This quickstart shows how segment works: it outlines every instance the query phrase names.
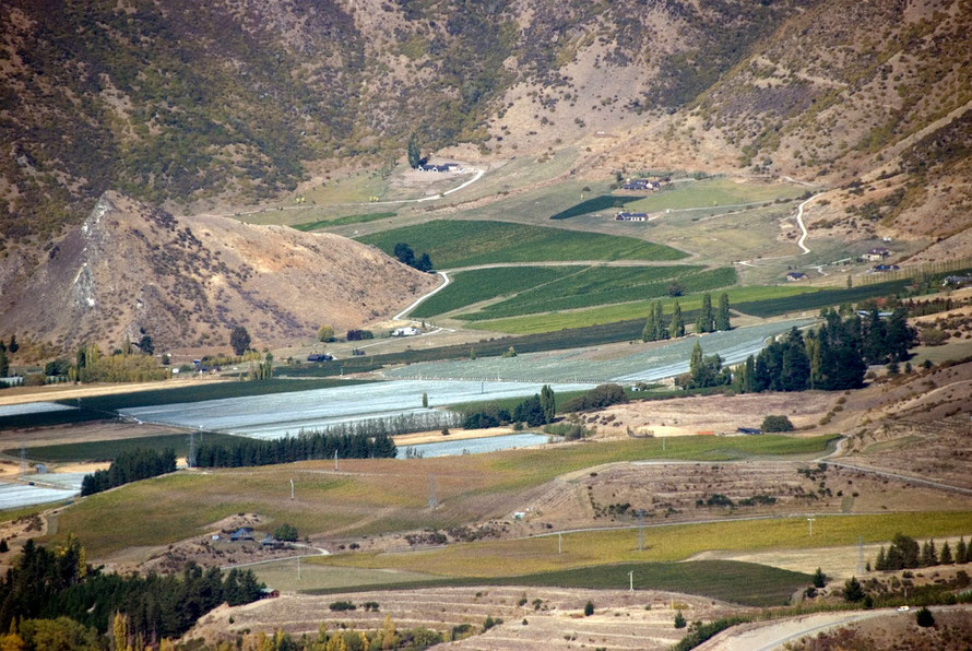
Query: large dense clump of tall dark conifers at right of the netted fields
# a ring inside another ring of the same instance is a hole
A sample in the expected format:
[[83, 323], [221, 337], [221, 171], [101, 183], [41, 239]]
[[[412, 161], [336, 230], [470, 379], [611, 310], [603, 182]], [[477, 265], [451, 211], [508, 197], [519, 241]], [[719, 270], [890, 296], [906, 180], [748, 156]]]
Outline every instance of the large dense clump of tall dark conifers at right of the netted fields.
[[904, 308], [894, 310], [887, 322], [876, 309], [864, 319], [858, 315], [841, 319], [829, 309], [822, 316], [819, 330], [801, 334], [793, 328], [756, 357], [750, 355], [735, 369], [735, 388], [747, 393], [856, 389], [869, 364], [897, 364], [916, 342]]

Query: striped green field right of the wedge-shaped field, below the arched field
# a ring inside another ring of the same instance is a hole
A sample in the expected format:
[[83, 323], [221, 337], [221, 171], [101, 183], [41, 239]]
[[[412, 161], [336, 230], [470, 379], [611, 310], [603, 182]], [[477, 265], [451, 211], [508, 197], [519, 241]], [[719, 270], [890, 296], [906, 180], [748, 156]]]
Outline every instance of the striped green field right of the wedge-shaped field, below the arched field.
[[482, 321], [657, 298], [667, 296], [673, 282], [678, 282], [687, 292], [704, 292], [732, 285], [736, 282], [736, 271], [731, 267], [710, 270], [689, 265], [593, 267], [459, 318]]

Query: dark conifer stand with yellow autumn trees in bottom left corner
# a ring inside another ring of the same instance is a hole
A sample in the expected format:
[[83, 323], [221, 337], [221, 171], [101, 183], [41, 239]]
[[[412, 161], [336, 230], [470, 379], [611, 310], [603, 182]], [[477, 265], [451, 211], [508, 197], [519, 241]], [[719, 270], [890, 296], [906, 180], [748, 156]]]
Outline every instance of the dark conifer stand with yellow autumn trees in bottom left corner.
[[[0, 582], [0, 628], [67, 617], [98, 634], [122, 628], [125, 644], [116, 648], [134, 648], [135, 642], [177, 638], [223, 602], [240, 605], [260, 599], [262, 588], [249, 570], [230, 570], [224, 578], [218, 568], [203, 571], [193, 564], [181, 576], [102, 573], [87, 565], [73, 536], [54, 549], [27, 541]], [[78, 627], [59, 628], [74, 628], [85, 637]]]

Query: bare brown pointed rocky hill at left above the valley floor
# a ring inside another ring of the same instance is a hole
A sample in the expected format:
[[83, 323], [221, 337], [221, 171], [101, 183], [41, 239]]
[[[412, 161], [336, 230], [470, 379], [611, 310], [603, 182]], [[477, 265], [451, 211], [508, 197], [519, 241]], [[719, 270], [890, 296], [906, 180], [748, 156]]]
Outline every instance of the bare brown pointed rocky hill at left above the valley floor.
[[45, 260], [0, 286], [0, 336], [72, 347], [150, 334], [159, 347], [312, 338], [360, 328], [437, 279], [336, 235], [174, 217], [115, 192]]

